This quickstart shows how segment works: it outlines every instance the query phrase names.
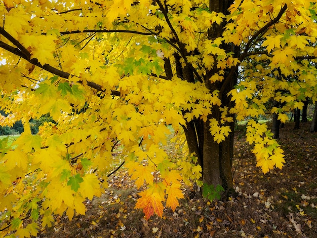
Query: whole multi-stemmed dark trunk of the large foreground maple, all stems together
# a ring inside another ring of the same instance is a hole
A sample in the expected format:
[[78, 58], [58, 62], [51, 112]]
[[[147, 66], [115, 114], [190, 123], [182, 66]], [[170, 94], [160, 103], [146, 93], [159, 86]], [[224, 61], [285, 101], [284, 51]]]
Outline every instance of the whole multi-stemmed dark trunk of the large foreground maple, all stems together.
[[[233, 0], [210, 0], [210, 11], [222, 12], [228, 14], [228, 8], [233, 3]], [[208, 37], [213, 39], [220, 37], [224, 30], [223, 24], [213, 24], [209, 29]], [[233, 45], [222, 44], [222, 48], [226, 52], [234, 52], [235, 56], [239, 56], [240, 48]], [[175, 67], [177, 76], [183, 78], [187, 82], [194, 82], [195, 78], [191, 71], [191, 65], [181, 65], [180, 56], [175, 53]], [[216, 58], [215, 58], [216, 61]], [[233, 89], [237, 81], [237, 69], [229, 68], [224, 73], [222, 82], [211, 83], [210, 77], [215, 73], [219, 73], [219, 68], [215, 64], [214, 68], [206, 72], [205, 85], [210, 93], [215, 90], [219, 93], [221, 107], [232, 108], [234, 105], [231, 102], [228, 93]], [[230, 126], [231, 133], [219, 144], [214, 141], [214, 137], [210, 132], [210, 119], [215, 118], [220, 123], [221, 108], [214, 106], [212, 113], [208, 115], [208, 120], [203, 122], [200, 119], [194, 119], [184, 126], [184, 132], [187, 139], [189, 152], [194, 152], [198, 157], [198, 164], [202, 167], [202, 180], [208, 185], [222, 185], [226, 192], [233, 190], [232, 178], [232, 158], [233, 158], [233, 132], [234, 122], [226, 123], [222, 126]], [[183, 112], [185, 113], [185, 111]], [[228, 115], [234, 118], [234, 115]]]

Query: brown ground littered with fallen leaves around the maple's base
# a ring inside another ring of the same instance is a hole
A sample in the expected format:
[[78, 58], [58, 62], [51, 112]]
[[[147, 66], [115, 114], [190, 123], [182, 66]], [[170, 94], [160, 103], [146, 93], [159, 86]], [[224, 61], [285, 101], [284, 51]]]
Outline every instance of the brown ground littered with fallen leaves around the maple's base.
[[[310, 133], [309, 126], [304, 123], [294, 131], [288, 123], [281, 129], [286, 164], [265, 175], [255, 167], [244, 129], [237, 128], [232, 166], [237, 195], [227, 201], [191, 197], [190, 187], [185, 187], [175, 212], [165, 209], [162, 219], [146, 220], [134, 209], [139, 191], [121, 169], [109, 178], [105, 194], [87, 201], [85, 216], [72, 221], [57, 216], [54, 227], [43, 229], [38, 237], [315, 237], [317, 134]], [[179, 156], [171, 143], [166, 150]], [[120, 153], [116, 156], [120, 165]]]

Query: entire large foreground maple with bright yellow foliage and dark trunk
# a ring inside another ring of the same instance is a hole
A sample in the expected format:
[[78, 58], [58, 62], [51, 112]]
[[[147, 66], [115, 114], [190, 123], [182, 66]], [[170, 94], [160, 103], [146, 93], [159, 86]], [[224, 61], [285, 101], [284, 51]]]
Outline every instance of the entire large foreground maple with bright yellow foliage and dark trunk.
[[[228, 192], [235, 118], [248, 118], [247, 141], [266, 173], [284, 155], [256, 118], [270, 108], [285, 122], [306, 97], [316, 100], [313, 2], [6, 0], [0, 12], [9, 114], [0, 122], [24, 126], [0, 143], [2, 234], [28, 237], [38, 219], [51, 226], [53, 214], [85, 214], [119, 142], [146, 187], [136, 204], [146, 218], [175, 210], [182, 180]], [[32, 135], [29, 121], [46, 114], [54, 122]], [[188, 144], [177, 161], [159, 146], [172, 131]]]

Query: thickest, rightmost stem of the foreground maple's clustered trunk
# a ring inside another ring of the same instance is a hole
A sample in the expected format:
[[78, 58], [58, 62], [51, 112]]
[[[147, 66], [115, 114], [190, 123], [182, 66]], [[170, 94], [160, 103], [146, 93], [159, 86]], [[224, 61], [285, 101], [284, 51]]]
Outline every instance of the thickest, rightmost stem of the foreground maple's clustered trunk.
[[[210, 0], [209, 9], [214, 12], [222, 12], [225, 15], [228, 14], [228, 8], [233, 3], [232, 0]], [[210, 39], [219, 37], [222, 35], [224, 29], [223, 24], [214, 23], [208, 32]], [[235, 56], [238, 56], [240, 49], [233, 45], [222, 44], [222, 48], [226, 52], [234, 52]], [[216, 62], [216, 59], [215, 59]], [[216, 65], [216, 64], [215, 64]], [[213, 93], [215, 90], [221, 91], [220, 100], [223, 106], [227, 106], [229, 109], [233, 106], [231, 98], [227, 96], [229, 91], [233, 89], [233, 86], [237, 81], [237, 73], [232, 74], [233, 69], [227, 69], [224, 73], [224, 81], [211, 84], [209, 78], [215, 73], [219, 72], [219, 69], [214, 66], [213, 69], [206, 72], [205, 85]], [[231, 73], [231, 74], [230, 74]], [[224, 82], [227, 83], [224, 87]], [[210, 133], [209, 120], [215, 118], [220, 123], [221, 111], [220, 108], [215, 107], [212, 110], [212, 114], [209, 115], [208, 120], [204, 123], [204, 148], [203, 148], [203, 181], [207, 184], [212, 184], [216, 187], [218, 184], [222, 185], [225, 191], [233, 189], [232, 178], [232, 158], [233, 158], [233, 131], [234, 123], [227, 123], [231, 127], [231, 134], [226, 137], [219, 144], [214, 141], [213, 136]], [[230, 116], [230, 115], [229, 115]], [[231, 115], [233, 116], [233, 115]]]

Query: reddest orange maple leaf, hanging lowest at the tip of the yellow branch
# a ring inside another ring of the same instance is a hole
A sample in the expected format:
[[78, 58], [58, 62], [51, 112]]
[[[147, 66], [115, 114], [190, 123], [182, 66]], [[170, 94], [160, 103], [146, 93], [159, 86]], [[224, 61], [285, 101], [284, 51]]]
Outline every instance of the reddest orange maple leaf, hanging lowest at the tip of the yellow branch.
[[141, 198], [138, 199], [135, 208], [143, 210], [146, 220], [148, 220], [154, 214], [162, 218], [164, 207], [160, 194], [155, 192], [148, 194], [148, 190], [146, 190], [140, 192], [139, 195]]

